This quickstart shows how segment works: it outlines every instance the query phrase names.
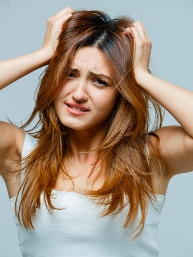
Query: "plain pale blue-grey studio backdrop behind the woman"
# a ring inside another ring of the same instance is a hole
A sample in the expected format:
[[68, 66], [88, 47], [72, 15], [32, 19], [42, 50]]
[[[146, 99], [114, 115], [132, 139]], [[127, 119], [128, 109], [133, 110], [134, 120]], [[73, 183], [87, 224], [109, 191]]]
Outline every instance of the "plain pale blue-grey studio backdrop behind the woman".
[[[1, 0], [0, 60], [26, 55], [40, 49], [47, 19], [67, 6], [71, 6], [74, 10], [86, 8], [105, 11], [111, 18], [123, 14], [131, 16], [135, 21], [141, 20], [153, 44], [149, 66], [152, 74], [193, 91], [193, 2], [191, 0]], [[17, 125], [21, 126], [21, 120], [27, 118], [33, 110], [34, 91], [39, 82], [38, 77], [44, 69], [45, 67], [42, 67], [0, 91], [1, 121], [8, 122], [7, 114], [12, 122], [17, 122]], [[179, 125], [179, 123], [166, 111], [163, 126], [168, 125]], [[192, 182], [193, 172], [178, 174], [169, 182], [166, 202], [158, 225], [160, 257], [193, 256]], [[0, 203], [0, 256], [22, 256], [8, 202], [7, 188], [1, 176]]]

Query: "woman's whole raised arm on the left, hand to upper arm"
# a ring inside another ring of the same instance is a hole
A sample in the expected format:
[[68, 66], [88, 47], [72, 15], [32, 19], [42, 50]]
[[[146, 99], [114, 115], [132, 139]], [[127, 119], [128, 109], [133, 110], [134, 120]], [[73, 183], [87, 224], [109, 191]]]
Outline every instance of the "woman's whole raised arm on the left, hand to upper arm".
[[[57, 46], [59, 33], [66, 19], [73, 12], [72, 8], [66, 7], [48, 18], [46, 34], [40, 50], [28, 55], [0, 61], [0, 90], [30, 72], [49, 64]], [[0, 175], [5, 180], [6, 185], [15, 180], [15, 173], [8, 174], [4, 172], [13, 169], [11, 158], [8, 155], [8, 146], [9, 152], [14, 158], [21, 158], [24, 139], [25, 132], [23, 130], [13, 124], [0, 121]]]

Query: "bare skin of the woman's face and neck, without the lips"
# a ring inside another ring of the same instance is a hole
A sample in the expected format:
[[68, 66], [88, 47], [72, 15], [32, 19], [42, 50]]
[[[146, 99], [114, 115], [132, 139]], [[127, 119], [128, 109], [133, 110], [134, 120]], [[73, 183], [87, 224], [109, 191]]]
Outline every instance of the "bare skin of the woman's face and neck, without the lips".
[[[112, 78], [103, 55], [96, 47], [86, 46], [79, 49], [71, 67], [78, 68], [80, 74], [70, 74], [54, 100], [54, 107], [61, 123], [69, 128], [71, 160], [82, 166], [92, 163], [96, 155], [95, 152], [79, 152], [93, 150], [99, 146], [100, 139], [106, 131], [106, 118], [115, 108], [119, 92], [112, 87], [111, 80], [88, 76], [89, 71], [92, 71]], [[101, 80], [108, 85], [102, 84]], [[71, 114], [67, 111], [65, 102], [80, 103], [90, 111], [84, 115]]]

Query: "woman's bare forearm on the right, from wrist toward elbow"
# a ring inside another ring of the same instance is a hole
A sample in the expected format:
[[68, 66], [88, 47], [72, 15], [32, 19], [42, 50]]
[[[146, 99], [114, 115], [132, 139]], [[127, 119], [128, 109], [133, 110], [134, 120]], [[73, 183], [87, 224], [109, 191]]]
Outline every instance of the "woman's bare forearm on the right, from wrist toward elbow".
[[193, 92], [144, 71], [137, 74], [136, 80], [193, 138]]

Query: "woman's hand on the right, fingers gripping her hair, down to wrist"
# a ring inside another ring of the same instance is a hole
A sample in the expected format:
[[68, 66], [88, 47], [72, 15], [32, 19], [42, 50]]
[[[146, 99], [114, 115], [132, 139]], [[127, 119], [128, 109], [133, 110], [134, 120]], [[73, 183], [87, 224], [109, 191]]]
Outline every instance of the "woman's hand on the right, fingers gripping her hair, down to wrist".
[[134, 50], [136, 51], [134, 56], [134, 73], [137, 79], [141, 71], [148, 72], [152, 43], [140, 20], [132, 23], [132, 25], [133, 27], [131, 29], [126, 28], [123, 34], [127, 35], [132, 30], [134, 35]]

